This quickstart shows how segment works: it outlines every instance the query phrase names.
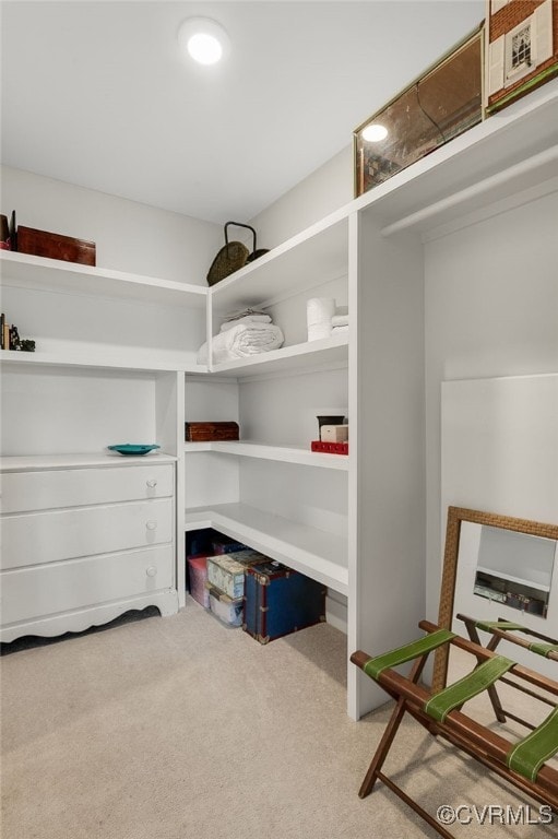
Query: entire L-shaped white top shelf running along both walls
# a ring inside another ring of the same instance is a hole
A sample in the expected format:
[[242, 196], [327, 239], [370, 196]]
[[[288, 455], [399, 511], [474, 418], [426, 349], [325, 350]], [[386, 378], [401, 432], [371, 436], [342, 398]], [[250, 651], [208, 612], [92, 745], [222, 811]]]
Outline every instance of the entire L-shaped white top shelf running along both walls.
[[[2, 282], [216, 312], [270, 305], [347, 276], [349, 220], [428, 237], [512, 197], [558, 188], [558, 79], [489, 117], [211, 288], [0, 251]], [[443, 227], [441, 226], [443, 225]]]

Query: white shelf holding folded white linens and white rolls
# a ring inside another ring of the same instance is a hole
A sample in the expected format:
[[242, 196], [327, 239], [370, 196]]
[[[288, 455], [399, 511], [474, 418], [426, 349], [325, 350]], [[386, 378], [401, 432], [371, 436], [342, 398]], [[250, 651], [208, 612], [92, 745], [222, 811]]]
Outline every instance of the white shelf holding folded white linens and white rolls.
[[317, 365], [331, 367], [334, 364], [346, 364], [348, 358], [348, 335], [335, 335], [320, 341], [306, 341], [304, 344], [284, 346], [269, 353], [253, 355], [250, 358], [239, 358], [235, 362], [213, 365], [212, 373], [219, 376], [260, 376], [262, 374], [302, 369]]

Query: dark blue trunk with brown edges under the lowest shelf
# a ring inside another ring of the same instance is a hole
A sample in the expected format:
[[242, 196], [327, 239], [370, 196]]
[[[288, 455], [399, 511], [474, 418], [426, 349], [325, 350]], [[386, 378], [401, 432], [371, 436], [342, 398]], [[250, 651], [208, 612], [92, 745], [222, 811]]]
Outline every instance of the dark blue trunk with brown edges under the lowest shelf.
[[260, 643], [325, 621], [325, 588], [272, 560], [245, 572], [242, 629]]

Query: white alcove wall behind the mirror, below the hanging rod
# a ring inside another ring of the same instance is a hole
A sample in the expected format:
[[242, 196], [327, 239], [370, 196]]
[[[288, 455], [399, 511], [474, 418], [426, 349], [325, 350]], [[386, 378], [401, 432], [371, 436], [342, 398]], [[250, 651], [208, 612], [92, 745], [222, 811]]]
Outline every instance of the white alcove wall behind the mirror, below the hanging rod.
[[[558, 370], [557, 214], [554, 193], [425, 247], [427, 612], [431, 619], [438, 613], [444, 531], [441, 382]], [[495, 504], [501, 495], [495, 487]], [[480, 491], [478, 498], [483, 498], [480, 506], [471, 496], [467, 506], [485, 509], [489, 501]], [[486, 511], [530, 518], [517, 509]]]

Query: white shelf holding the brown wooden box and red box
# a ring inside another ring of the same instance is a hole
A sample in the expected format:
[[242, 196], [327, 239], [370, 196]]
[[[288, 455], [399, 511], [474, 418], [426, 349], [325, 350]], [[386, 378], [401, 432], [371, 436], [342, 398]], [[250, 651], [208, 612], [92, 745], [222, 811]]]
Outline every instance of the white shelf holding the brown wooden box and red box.
[[187, 453], [217, 451], [222, 454], [235, 454], [241, 458], [276, 460], [281, 463], [297, 463], [304, 466], [321, 466], [323, 469], [348, 471], [347, 454], [328, 454], [295, 446], [270, 446], [249, 440], [212, 440], [207, 442], [186, 442], [185, 451]]

